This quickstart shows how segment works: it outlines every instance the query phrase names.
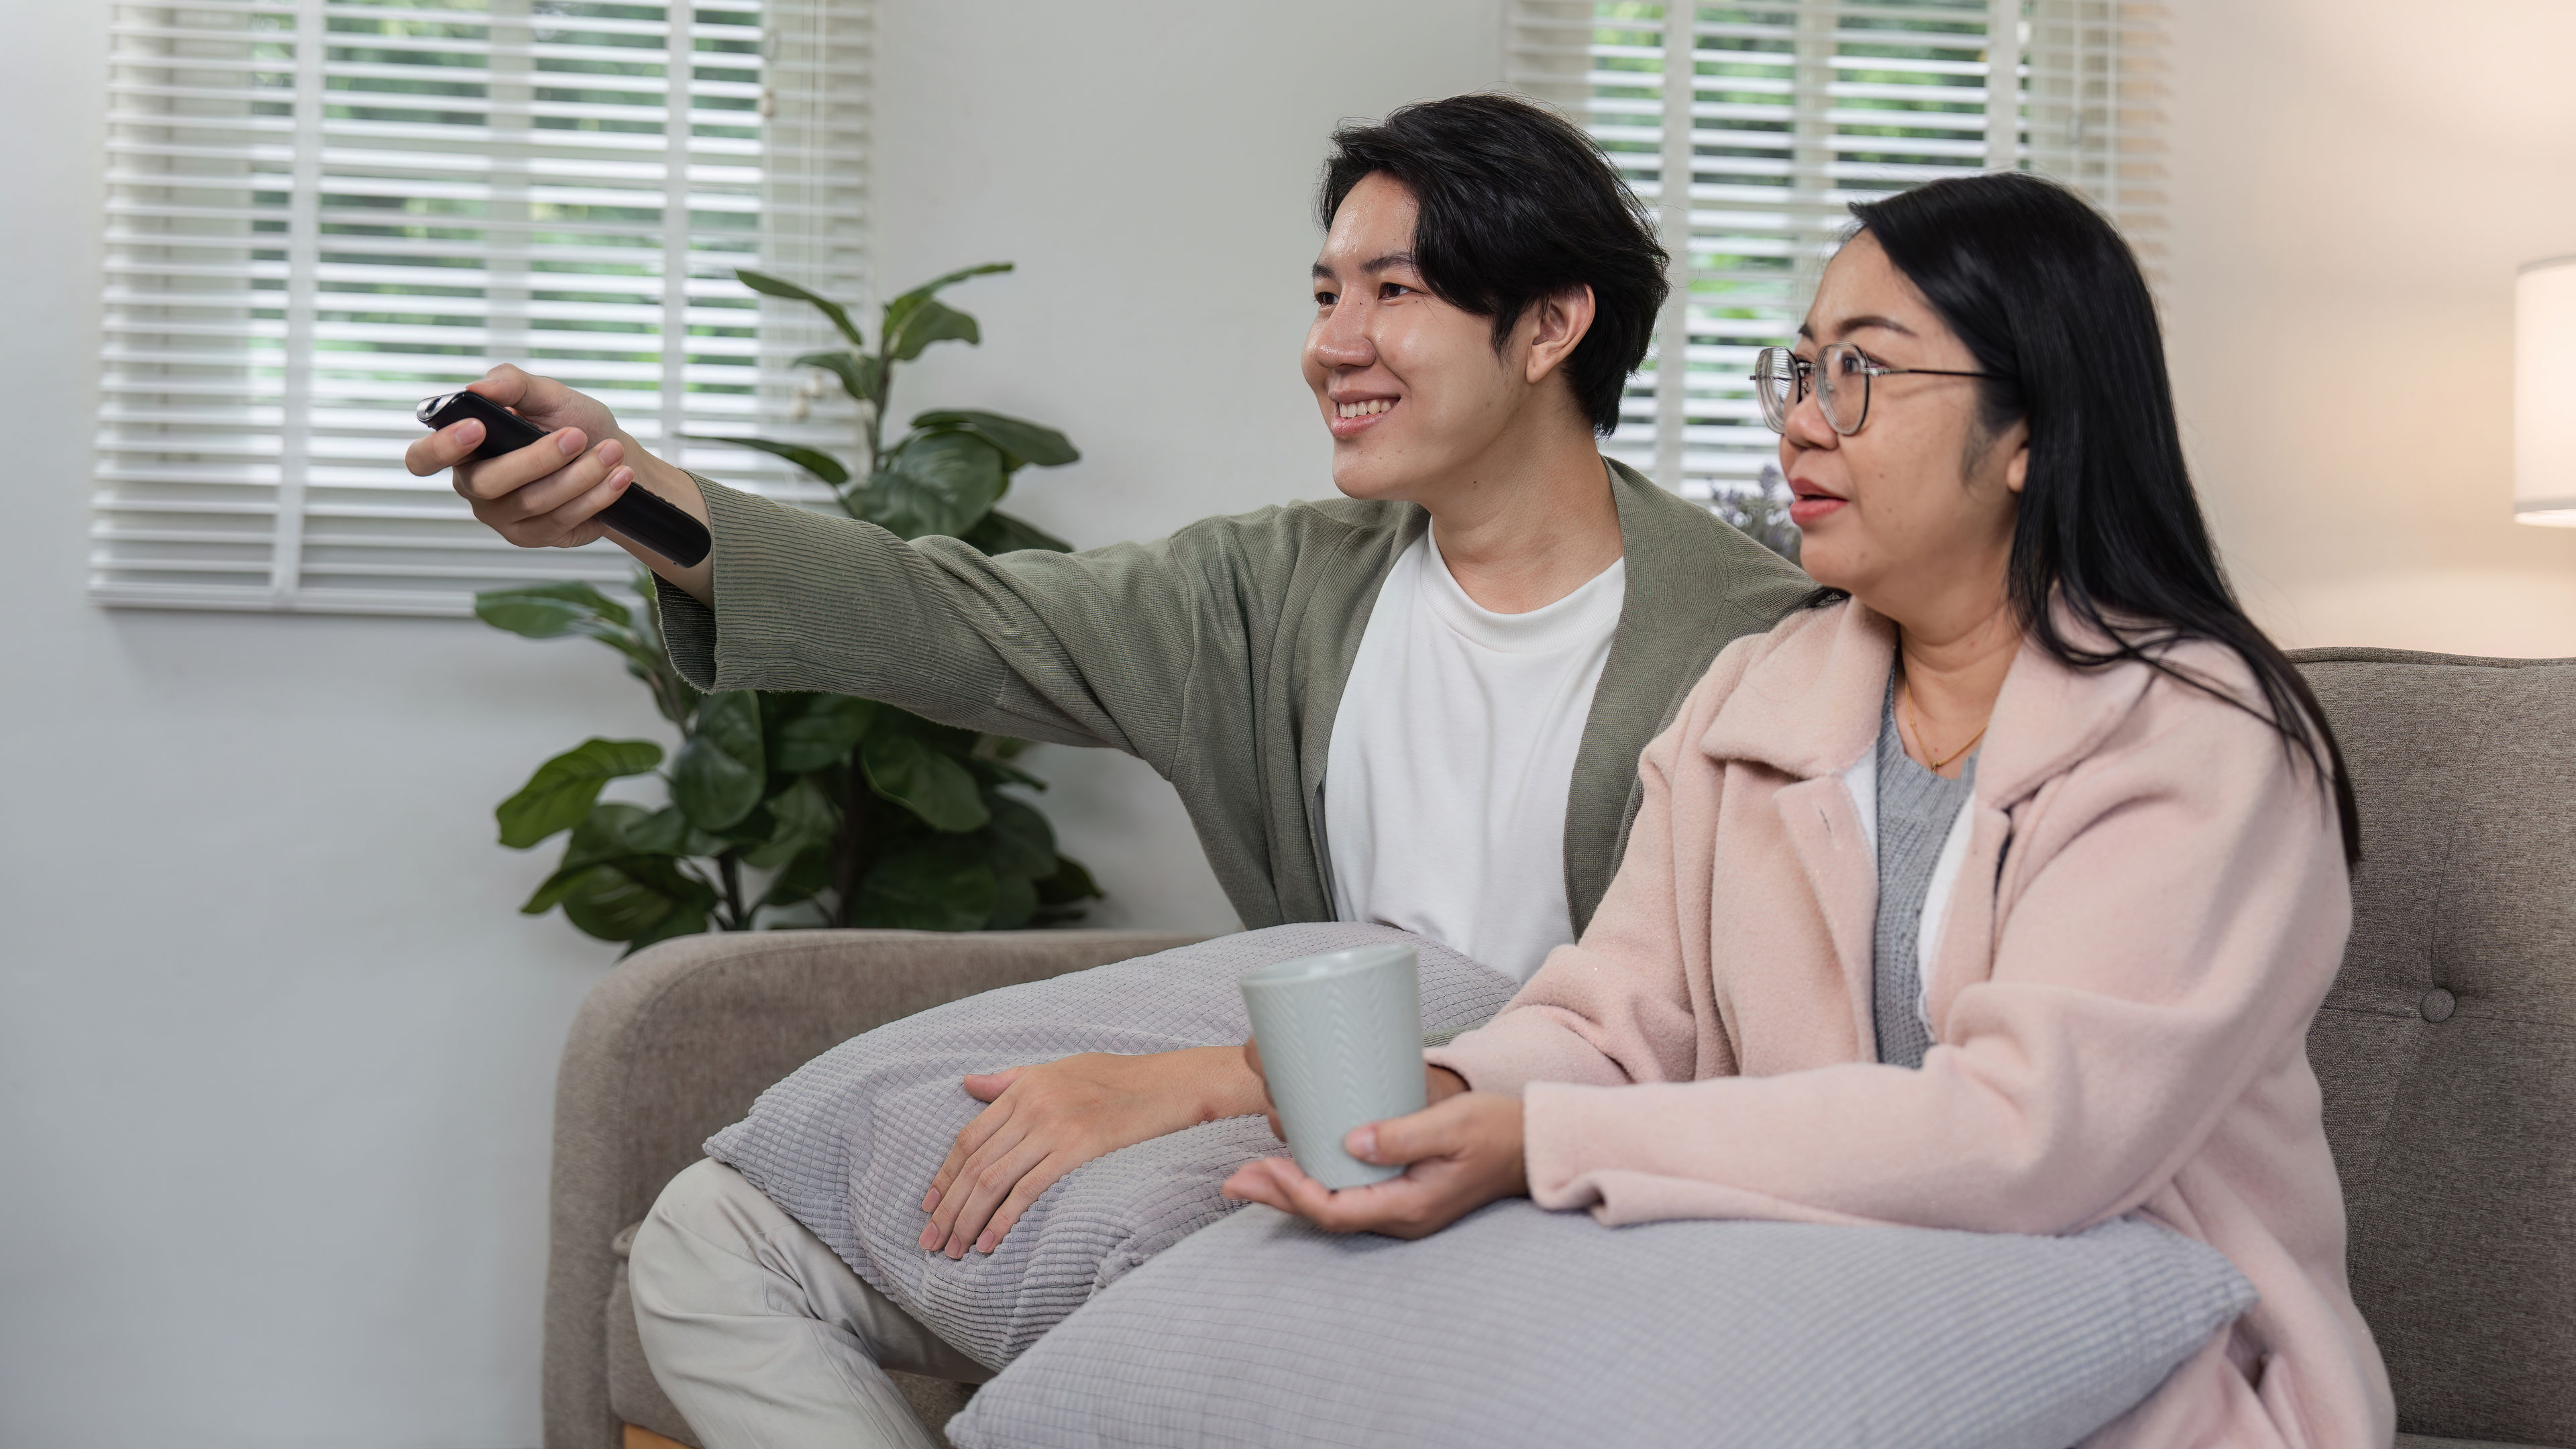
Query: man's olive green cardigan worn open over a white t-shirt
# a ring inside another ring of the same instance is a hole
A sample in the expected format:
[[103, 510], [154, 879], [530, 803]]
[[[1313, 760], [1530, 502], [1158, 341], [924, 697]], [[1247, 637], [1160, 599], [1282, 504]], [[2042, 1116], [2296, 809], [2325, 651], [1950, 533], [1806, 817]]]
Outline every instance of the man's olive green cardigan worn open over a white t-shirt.
[[[698, 688], [819, 688], [966, 730], [1105, 745], [1180, 792], [1244, 926], [1332, 920], [1321, 786], [1342, 681], [1412, 503], [1291, 503], [1151, 544], [984, 557], [698, 480], [716, 606], [662, 585]], [[1808, 578], [1610, 464], [1628, 601], [1574, 755], [1566, 900], [1592, 918], [1636, 817], [1636, 755], [1708, 663]]]

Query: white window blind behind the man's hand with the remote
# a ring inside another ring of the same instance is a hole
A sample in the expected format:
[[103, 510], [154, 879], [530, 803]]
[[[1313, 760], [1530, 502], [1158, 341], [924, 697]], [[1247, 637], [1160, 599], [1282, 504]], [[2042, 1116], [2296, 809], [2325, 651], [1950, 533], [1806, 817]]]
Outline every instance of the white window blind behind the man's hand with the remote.
[[680, 433], [799, 436], [788, 361], [819, 322], [732, 273], [860, 289], [866, 23], [858, 0], [113, 5], [93, 598], [461, 614], [623, 578], [608, 544], [510, 549], [410, 477], [412, 407], [518, 361], [675, 462]]

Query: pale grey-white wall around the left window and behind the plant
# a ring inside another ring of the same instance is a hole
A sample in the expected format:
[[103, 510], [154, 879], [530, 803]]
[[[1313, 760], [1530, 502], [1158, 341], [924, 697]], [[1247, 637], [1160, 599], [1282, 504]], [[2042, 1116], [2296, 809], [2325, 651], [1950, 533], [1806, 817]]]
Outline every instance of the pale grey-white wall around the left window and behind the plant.
[[[1492, 85], [1497, 0], [881, 0], [881, 276], [956, 299], [902, 407], [1084, 449], [1082, 541], [1329, 487], [1296, 376], [1347, 113]], [[513, 913], [495, 799], [654, 732], [598, 650], [82, 601], [106, 3], [0, 0], [0, 1446], [528, 1446], [554, 1057], [611, 949]], [[1097, 923], [1234, 923], [1141, 766], [1041, 750]]]

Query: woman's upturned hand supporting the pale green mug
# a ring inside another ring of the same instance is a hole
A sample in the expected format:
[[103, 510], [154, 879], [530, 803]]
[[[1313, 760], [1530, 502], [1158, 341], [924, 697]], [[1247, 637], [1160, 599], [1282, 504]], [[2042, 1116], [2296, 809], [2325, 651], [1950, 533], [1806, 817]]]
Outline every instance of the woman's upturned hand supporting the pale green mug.
[[1262, 1158], [1236, 1168], [1224, 1194], [1293, 1212], [1327, 1232], [1427, 1238], [1489, 1201], [1530, 1191], [1517, 1096], [1461, 1091], [1409, 1116], [1352, 1127], [1342, 1147], [1363, 1163], [1401, 1163], [1404, 1176], [1332, 1191], [1293, 1158]]

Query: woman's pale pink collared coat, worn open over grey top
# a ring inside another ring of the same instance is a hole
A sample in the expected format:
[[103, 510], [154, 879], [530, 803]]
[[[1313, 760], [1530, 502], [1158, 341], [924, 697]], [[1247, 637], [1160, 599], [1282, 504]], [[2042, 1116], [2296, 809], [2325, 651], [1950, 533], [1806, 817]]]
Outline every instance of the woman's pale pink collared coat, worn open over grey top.
[[[1602, 1222], [2076, 1232], [2143, 1209], [2262, 1302], [2089, 1446], [2391, 1444], [2306, 1052], [2352, 926], [2331, 799], [2241, 709], [2025, 647], [1927, 967], [1935, 1047], [1878, 1065], [1878, 871], [1842, 771], [1891, 663], [1857, 603], [1736, 639], [1646, 745], [1592, 928], [1430, 1057], [1520, 1093], [1530, 1196]], [[2228, 650], [2172, 663], [2251, 699]]]

